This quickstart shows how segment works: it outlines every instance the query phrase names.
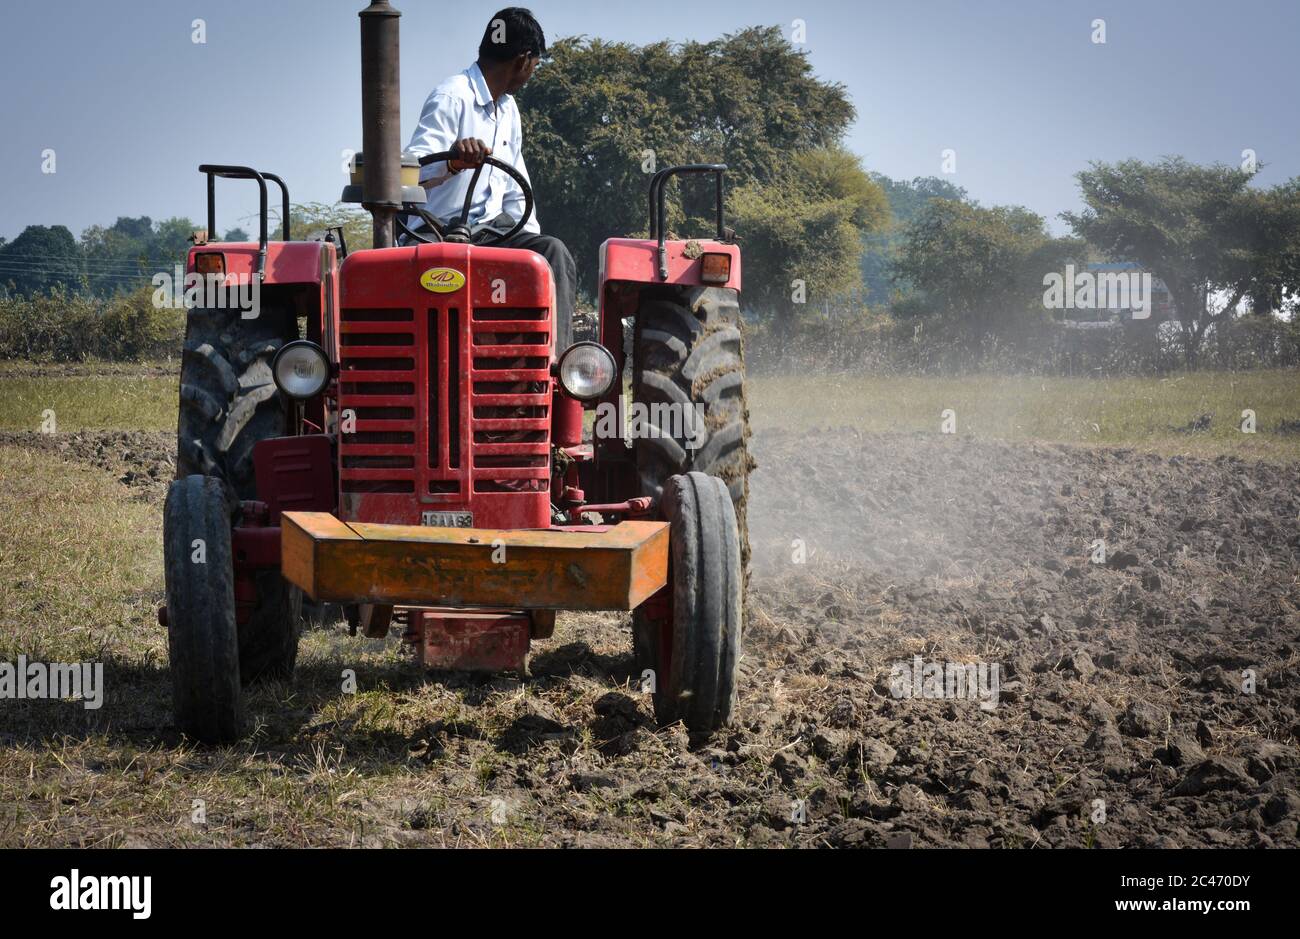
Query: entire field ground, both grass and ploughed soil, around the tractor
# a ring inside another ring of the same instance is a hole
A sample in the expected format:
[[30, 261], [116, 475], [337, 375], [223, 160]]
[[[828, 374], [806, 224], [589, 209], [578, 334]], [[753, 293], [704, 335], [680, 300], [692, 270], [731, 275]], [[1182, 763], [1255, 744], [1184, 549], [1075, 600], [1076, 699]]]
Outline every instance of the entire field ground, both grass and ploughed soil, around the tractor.
[[[757, 376], [733, 730], [656, 727], [616, 615], [562, 615], [528, 680], [326, 623], [228, 748], [170, 723], [174, 385], [0, 369], [0, 661], [107, 685], [0, 705], [3, 847], [1300, 843], [1295, 373]], [[896, 698], [915, 657], [998, 663], [997, 706]]]

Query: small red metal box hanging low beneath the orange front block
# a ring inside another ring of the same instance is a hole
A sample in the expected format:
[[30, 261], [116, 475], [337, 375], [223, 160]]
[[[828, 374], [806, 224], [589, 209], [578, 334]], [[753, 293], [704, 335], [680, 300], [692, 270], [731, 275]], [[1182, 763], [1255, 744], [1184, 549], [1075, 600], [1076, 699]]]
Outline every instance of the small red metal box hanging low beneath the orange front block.
[[425, 668], [523, 672], [529, 631], [526, 613], [411, 610], [402, 640]]

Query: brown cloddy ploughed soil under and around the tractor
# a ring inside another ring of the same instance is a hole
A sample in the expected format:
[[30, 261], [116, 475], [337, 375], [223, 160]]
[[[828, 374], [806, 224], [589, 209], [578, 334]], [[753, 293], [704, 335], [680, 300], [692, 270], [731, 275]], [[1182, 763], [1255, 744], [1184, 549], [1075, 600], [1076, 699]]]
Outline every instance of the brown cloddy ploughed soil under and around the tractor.
[[[168, 434], [0, 443], [161, 510]], [[733, 730], [656, 727], [607, 615], [562, 616], [528, 680], [360, 667], [396, 715], [325, 721], [332, 657], [360, 642], [332, 623], [292, 696], [254, 700], [248, 760], [338, 748], [374, 844], [1297, 847], [1300, 467], [852, 429], [759, 433], [754, 455]], [[914, 657], [996, 665], [996, 702], [896, 697]], [[164, 667], [142, 679], [162, 713]], [[110, 741], [178, 744], [116, 706]], [[226, 841], [309, 828], [231, 813]]]

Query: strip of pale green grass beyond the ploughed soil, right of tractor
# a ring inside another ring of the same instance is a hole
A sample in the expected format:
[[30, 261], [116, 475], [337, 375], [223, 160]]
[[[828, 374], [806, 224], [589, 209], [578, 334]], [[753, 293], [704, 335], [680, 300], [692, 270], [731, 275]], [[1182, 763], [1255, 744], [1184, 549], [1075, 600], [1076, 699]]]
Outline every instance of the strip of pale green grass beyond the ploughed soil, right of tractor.
[[[939, 433], [956, 412], [957, 433], [983, 438], [1131, 446], [1165, 454], [1300, 459], [1300, 373], [1196, 372], [1165, 378], [954, 378], [758, 376], [750, 381], [755, 429], [854, 427], [866, 432]], [[1256, 414], [1256, 433], [1240, 429]], [[1204, 433], [1184, 434], [1212, 414]]]

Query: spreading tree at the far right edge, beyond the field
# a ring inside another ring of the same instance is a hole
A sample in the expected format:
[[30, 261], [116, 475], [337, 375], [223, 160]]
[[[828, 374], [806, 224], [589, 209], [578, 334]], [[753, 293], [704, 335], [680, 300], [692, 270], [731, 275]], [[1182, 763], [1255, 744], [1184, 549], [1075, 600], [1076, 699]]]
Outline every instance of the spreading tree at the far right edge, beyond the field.
[[1078, 174], [1087, 208], [1062, 215], [1098, 250], [1165, 282], [1188, 365], [1206, 332], [1227, 323], [1243, 298], [1271, 306], [1300, 286], [1300, 190], [1295, 181], [1256, 190], [1251, 178], [1182, 157], [1095, 163]]

